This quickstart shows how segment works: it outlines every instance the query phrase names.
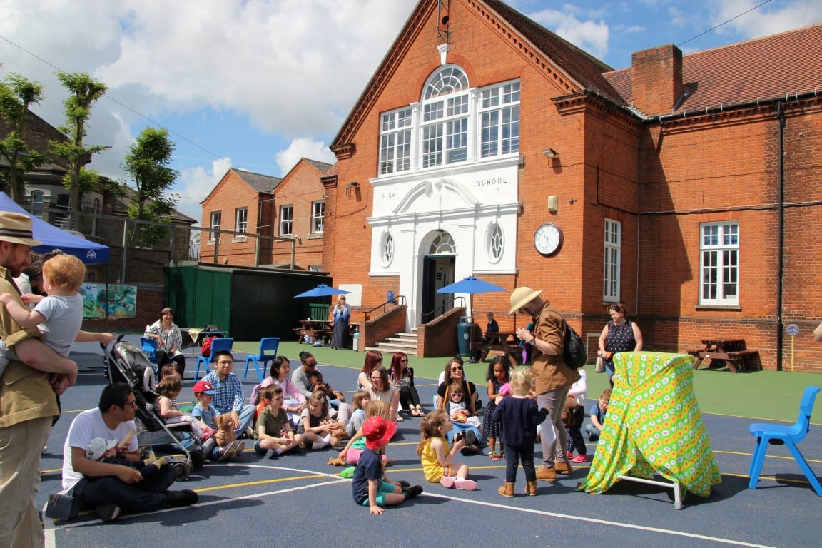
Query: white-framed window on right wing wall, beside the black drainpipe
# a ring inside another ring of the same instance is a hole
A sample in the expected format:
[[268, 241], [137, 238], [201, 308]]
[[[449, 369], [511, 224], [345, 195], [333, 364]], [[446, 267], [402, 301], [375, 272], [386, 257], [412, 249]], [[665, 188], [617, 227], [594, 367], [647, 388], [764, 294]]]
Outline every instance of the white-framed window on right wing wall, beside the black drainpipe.
[[700, 305], [739, 306], [739, 221], [700, 223]]

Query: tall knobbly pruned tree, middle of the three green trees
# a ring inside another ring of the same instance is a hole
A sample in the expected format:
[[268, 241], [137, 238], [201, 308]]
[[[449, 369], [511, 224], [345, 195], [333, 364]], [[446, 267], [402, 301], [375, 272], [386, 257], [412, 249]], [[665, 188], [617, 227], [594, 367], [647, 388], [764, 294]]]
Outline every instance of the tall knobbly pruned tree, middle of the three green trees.
[[96, 81], [85, 72], [57, 73], [58, 80], [70, 95], [62, 102], [66, 108], [66, 125], [59, 128], [68, 136], [66, 142], [52, 140], [49, 142], [55, 155], [65, 159], [69, 164], [63, 185], [68, 189], [72, 202], [72, 211], [80, 211], [83, 204], [83, 194], [94, 190], [95, 187], [84, 187], [94, 177], [83, 177], [82, 168], [91, 161], [91, 154], [111, 148], [105, 145], [84, 145], [83, 139], [88, 132], [86, 122], [91, 117], [91, 107], [102, 97], [108, 86]]

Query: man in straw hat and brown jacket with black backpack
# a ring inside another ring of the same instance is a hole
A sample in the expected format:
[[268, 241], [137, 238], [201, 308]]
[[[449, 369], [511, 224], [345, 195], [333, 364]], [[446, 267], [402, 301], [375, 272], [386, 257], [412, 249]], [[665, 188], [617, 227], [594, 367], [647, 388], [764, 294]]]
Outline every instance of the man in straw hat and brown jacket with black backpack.
[[[539, 297], [541, 293], [525, 286], [516, 288], [511, 292], [508, 315], [520, 312], [533, 317], [533, 331], [520, 328], [516, 334], [520, 340], [533, 345], [531, 361], [537, 404], [550, 413], [550, 420], [543, 422], [540, 434], [543, 466], [537, 471], [537, 479], [554, 481], [556, 472], [572, 472], [567, 456], [566, 429], [562, 425], [562, 406], [570, 385], [580, 380], [580, 373], [566, 366], [563, 360], [567, 329], [565, 318], [550, 302]], [[559, 444], [556, 443], [557, 436]]]

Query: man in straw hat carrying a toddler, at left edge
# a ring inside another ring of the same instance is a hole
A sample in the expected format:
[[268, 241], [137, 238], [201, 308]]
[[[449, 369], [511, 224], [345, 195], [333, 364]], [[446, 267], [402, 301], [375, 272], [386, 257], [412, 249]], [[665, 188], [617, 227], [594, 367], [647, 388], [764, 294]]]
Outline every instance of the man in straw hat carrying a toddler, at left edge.
[[[12, 281], [29, 264], [31, 219], [0, 212], [0, 293], [11, 292], [22, 305]], [[0, 546], [44, 546], [43, 527], [34, 497], [40, 486], [40, 452], [60, 414], [54, 394], [77, 378], [77, 364], [41, 343], [38, 329], [22, 329], [0, 306], [0, 337], [20, 361], [12, 360], [0, 382]]]

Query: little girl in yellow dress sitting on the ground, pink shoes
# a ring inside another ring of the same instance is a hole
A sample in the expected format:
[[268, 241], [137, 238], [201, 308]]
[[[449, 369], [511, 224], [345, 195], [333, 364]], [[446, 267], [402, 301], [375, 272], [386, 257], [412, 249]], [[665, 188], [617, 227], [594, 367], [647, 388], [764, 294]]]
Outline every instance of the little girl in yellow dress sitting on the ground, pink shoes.
[[439, 481], [441, 486], [449, 489], [476, 490], [477, 482], [467, 479], [468, 465], [454, 462], [457, 451], [466, 442], [473, 441], [473, 431], [466, 431], [464, 436], [456, 434], [454, 446], [449, 449], [446, 435], [453, 427], [448, 413], [442, 409], [436, 409], [420, 419], [417, 454], [423, 459], [425, 479], [432, 483]]

